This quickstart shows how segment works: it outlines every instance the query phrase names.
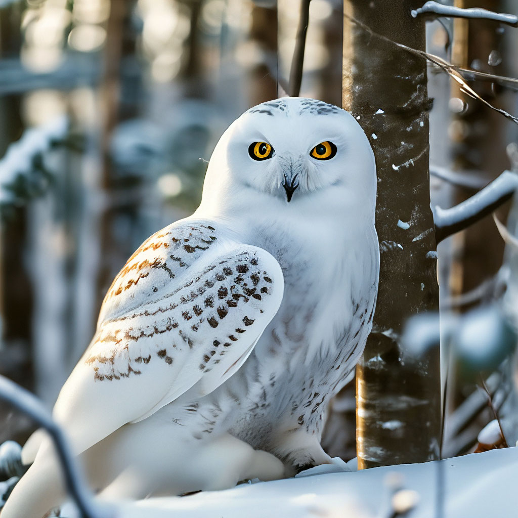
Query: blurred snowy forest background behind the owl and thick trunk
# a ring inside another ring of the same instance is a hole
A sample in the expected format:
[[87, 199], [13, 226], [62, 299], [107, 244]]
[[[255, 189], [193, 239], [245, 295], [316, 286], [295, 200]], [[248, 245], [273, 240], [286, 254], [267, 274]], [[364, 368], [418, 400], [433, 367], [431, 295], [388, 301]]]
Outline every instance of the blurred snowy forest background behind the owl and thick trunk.
[[[518, 13], [515, 0], [455, 5]], [[0, 0], [2, 375], [51, 408], [127, 257], [197, 207], [225, 128], [285, 94], [299, 10], [300, 0]], [[338, 106], [342, 13], [342, 0], [310, 2], [300, 91]], [[445, 26], [427, 23], [428, 52], [518, 76], [518, 30], [484, 20]], [[470, 85], [518, 113], [515, 83]], [[431, 202], [450, 207], [518, 168], [518, 126], [431, 65], [428, 89]], [[498, 210], [500, 221], [511, 205]], [[438, 252], [444, 311], [498, 301], [502, 276], [516, 276], [491, 216]], [[497, 364], [482, 370], [499, 409], [512, 391], [511, 370]], [[470, 451], [494, 418], [478, 384], [462, 360], [450, 364], [445, 408], [456, 418], [444, 456]], [[0, 403], [0, 443], [23, 442], [33, 428]], [[323, 445], [332, 456], [355, 456], [354, 384], [333, 402]]]

